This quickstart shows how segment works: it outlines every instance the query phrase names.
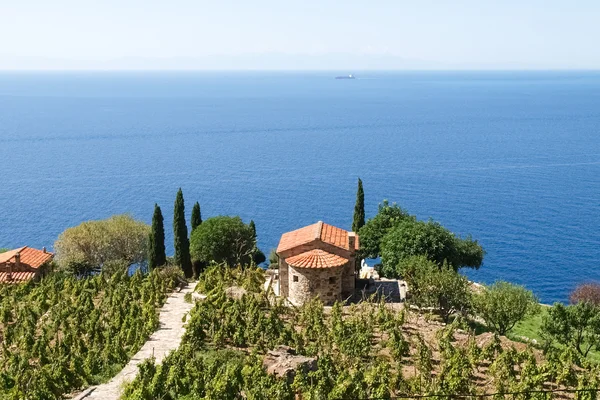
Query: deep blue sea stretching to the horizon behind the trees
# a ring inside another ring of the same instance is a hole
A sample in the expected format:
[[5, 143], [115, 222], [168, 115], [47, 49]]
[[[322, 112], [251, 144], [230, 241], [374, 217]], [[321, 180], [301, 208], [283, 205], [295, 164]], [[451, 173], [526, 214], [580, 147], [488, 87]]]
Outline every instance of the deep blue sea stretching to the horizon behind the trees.
[[[354, 72], [354, 71], [351, 71]], [[0, 247], [116, 213], [350, 228], [384, 199], [487, 251], [546, 303], [600, 280], [600, 73], [0, 73]], [[171, 250], [169, 250], [171, 251]]]

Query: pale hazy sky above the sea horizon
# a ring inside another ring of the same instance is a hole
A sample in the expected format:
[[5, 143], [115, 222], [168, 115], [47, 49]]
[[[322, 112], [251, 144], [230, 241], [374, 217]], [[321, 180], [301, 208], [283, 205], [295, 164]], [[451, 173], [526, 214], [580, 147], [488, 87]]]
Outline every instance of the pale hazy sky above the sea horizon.
[[600, 69], [598, 0], [0, 0], [0, 69]]

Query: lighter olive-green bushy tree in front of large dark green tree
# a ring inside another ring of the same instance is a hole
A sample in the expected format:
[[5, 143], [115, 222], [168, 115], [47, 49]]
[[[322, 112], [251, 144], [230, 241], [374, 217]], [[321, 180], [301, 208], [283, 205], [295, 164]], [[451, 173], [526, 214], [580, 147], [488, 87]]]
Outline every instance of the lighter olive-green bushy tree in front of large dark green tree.
[[446, 264], [440, 268], [425, 256], [415, 256], [404, 263], [411, 304], [435, 308], [445, 322], [454, 313], [469, 311], [471, 289], [467, 278]]

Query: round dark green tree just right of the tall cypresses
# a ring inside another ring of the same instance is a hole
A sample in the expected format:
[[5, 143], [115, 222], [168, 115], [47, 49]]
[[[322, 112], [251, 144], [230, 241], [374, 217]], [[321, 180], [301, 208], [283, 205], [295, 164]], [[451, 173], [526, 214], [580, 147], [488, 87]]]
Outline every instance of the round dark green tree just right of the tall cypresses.
[[254, 232], [240, 217], [212, 217], [192, 232], [191, 251], [201, 262], [247, 265], [256, 251]]

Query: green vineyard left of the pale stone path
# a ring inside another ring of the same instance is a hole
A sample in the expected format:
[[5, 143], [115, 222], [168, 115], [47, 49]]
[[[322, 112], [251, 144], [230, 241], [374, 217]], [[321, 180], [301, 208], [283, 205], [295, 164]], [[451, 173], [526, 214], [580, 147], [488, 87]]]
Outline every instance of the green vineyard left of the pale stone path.
[[0, 398], [61, 398], [115, 375], [157, 328], [178, 271], [0, 286]]

